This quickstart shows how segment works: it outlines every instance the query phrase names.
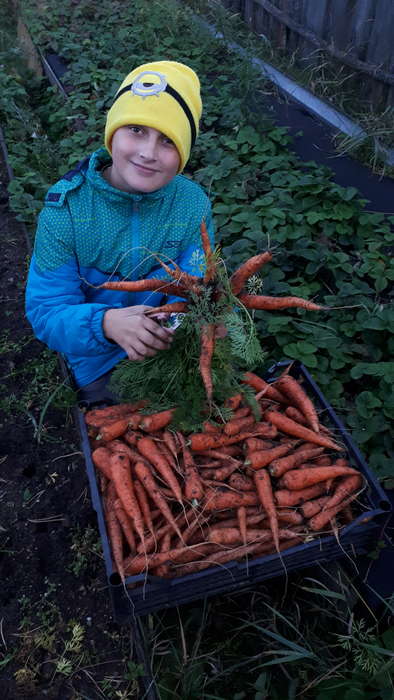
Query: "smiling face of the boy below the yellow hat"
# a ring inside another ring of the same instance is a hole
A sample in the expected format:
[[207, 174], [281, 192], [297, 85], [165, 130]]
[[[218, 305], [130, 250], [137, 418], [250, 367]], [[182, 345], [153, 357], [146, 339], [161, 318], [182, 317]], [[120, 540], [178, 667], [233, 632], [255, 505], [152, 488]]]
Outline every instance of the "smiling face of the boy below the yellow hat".
[[108, 182], [124, 192], [154, 192], [177, 174], [176, 146], [150, 126], [121, 126], [112, 138], [112, 165], [104, 171]]

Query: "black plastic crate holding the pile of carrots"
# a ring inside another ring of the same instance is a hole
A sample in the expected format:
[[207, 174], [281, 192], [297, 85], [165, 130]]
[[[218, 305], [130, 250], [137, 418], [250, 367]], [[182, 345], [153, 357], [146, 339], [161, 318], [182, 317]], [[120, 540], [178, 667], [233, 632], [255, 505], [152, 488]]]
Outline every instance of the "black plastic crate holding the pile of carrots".
[[[288, 364], [281, 362], [274, 365], [268, 371], [266, 379], [273, 380]], [[92, 504], [97, 513], [109, 592], [117, 622], [128, 622], [134, 616], [146, 615], [155, 610], [182, 605], [207, 596], [241, 591], [259, 581], [284, 575], [285, 571], [310, 567], [318, 562], [329, 562], [346, 556], [354, 559], [371, 549], [380, 539], [390, 517], [389, 499], [306, 368], [298, 362], [291, 363], [290, 373], [297, 378], [302, 377], [306, 390], [323, 412], [325, 423], [333, 428], [336, 436], [346, 446], [351, 463], [365, 476], [368, 487], [363, 493], [362, 514], [342, 528], [339, 537], [316, 537], [311, 542], [284, 550], [280, 556], [271, 554], [243, 562], [234, 561], [179, 578], [162, 579], [151, 574], [129, 576], [126, 579], [127, 590], [113, 567], [89, 438], [83, 413], [78, 411], [78, 427]]]

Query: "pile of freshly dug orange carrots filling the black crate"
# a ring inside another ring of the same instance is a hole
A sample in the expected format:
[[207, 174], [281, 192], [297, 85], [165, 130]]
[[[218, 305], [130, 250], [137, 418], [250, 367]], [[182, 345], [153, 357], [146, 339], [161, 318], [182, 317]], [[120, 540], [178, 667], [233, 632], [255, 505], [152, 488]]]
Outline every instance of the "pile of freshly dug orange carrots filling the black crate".
[[246, 372], [260, 415], [240, 393], [227, 420], [171, 428], [175, 409], [119, 404], [85, 414], [114, 565], [122, 580], [178, 577], [260, 557], [352, 521], [360, 472], [287, 370]]

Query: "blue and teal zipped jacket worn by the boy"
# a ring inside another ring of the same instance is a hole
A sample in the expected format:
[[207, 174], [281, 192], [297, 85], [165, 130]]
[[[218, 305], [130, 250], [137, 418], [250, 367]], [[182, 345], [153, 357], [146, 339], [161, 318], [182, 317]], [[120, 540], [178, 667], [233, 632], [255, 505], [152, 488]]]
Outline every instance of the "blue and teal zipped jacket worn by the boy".
[[102, 177], [105, 149], [86, 158], [47, 193], [26, 289], [35, 335], [62, 353], [78, 386], [97, 379], [126, 355], [102, 329], [109, 308], [158, 306], [157, 292], [99, 289], [108, 279], [167, 277], [156, 255], [201, 275], [200, 223], [213, 241], [211, 207], [203, 189], [177, 175], [160, 190], [131, 194]]

